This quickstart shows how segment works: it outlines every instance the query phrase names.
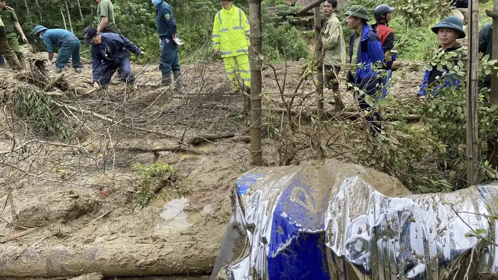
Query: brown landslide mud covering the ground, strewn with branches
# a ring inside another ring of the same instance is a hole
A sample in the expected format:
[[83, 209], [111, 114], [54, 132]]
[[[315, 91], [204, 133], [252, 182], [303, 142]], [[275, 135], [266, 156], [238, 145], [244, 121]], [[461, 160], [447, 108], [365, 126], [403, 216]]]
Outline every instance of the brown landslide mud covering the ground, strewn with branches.
[[[27, 53], [32, 62], [44, 55]], [[118, 83], [115, 75], [108, 90], [85, 95], [92, 82], [89, 61], [83, 62], [82, 74], [66, 72], [66, 91], [55, 90], [64, 94], [61, 100], [71, 108], [114, 119], [128, 116], [126, 122], [132, 125], [120, 127], [65, 107], [66, 116], [61, 118], [79, 128], [74, 135], [66, 140], [34, 138], [24, 120], [8, 114], [10, 97], [33, 74], [0, 69], [5, 112], [0, 121], [8, 127], [0, 139], [4, 174], [0, 177], [0, 277], [75, 276], [103, 270], [113, 271], [109, 277], [132, 271], [208, 275], [232, 213], [234, 181], [252, 168], [243, 98], [231, 93], [220, 62], [183, 67], [182, 93], [159, 87], [156, 65], [133, 65], [137, 73], [133, 87]], [[276, 65], [275, 72], [271, 67], [264, 70], [266, 104], [279, 99], [275, 73], [279, 81], [286, 77], [285, 93], [293, 93], [305, 66], [300, 61]], [[54, 68], [48, 72], [50, 79], [57, 76]], [[422, 76], [395, 72], [392, 95], [416, 94]], [[308, 82], [302, 92], [312, 90]], [[343, 99], [351, 100], [350, 94], [344, 92]], [[155, 133], [138, 131], [138, 127]], [[143, 151], [144, 147], [174, 146], [199, 134], [229, 133], [235, 137], [192, 142], [194, 152]], [[266, 166], [278, 164], [274, 141], [263, 140]], [[143, 181], [133, 166], [153, 162], [172, 165], [174, 179], [188, 183], [178, 188], [179, 181], [177, 185], [154, 182], [158, 192], [145, 206], [137, 206], [135, 192]], [[27, 234], [16, 236], [19, 233]], [[78, 254], [84, 256], [78, 258]], [[69, 265], [58, 265], [64, 262]]]

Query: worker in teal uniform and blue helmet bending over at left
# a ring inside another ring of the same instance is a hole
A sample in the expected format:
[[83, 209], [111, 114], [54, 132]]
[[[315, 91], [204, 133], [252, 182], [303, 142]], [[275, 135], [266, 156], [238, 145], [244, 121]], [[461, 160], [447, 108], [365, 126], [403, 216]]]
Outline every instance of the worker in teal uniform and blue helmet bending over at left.
[[52, 64], [52, 59], [54, 58], [54, 46], [59, 48], [57, 60], [55, 61], [57, 73], [64, 71], [64, 67], [70, 58], [73, 58], [74, 72], [81, 73], [81, 43], [72, 32], [65, 29], [48, 29], [38, 25], [34, 28], [34, 35], [42, 39], [47, 46], [48, 62], [50, 64]]

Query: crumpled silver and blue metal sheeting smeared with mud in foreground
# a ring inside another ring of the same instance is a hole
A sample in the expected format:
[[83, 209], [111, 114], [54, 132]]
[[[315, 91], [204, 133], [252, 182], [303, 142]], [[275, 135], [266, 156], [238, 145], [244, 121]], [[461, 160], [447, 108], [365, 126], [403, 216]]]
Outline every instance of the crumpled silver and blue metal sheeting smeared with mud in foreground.
[[464, 279], [471, 264], [494, 275], [497, 197], [497, 185], [411, 194], [339, 161], [253, 169], [211, 279]]

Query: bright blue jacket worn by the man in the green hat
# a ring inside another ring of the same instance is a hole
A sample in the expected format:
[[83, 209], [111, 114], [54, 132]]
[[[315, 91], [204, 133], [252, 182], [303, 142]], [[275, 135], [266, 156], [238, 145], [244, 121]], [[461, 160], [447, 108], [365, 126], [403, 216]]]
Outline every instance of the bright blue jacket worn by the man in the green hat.
[[[354, 84], [360, 84], [360, 88], [365, 89], [369, 85], [376, 84], [375, 82], [373, 82], [373, 80], [377, 79], [375, 64], [378, 65], [384, 59], [384, 52], [382, 51], [382, 45], [380, 44], [380, 40], [373, 30], [372, 26], [370, 26], [369, 24], [365, 24], [363, 26], [363, 34], [360, 39], [360, 46], [358, 48], [357, 61], [351, 61], [354, 51], [353, 45], [355, 42], [355, 38], [356, 35], [355, 33], [353, 33], [350, 37], [349, 61], [351, 62], [351, 64], [361, 63], [362, 67], [358, 67], [358, 69], [356, 70], [355, 79], [350, 82], [353, 82]], [[367, 91], [370, 90], [374, 91], [375, 86], [373, 86], [373, 89], [369, 88]]]

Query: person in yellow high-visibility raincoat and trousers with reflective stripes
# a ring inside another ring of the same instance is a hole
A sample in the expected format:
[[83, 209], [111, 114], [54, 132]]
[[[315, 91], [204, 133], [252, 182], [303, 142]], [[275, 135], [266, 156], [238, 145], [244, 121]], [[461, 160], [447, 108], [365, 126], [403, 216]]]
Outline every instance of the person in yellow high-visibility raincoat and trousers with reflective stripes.
[[232, 0], [220, 2], [223, 8], [215, 15], [211, 36], [213, 48], [223, 58], [226, 74], [235, 89], [241, 89], [239, 79], [242, 79], [249, 92], [249, 21], [244, 11], [232, 4]]

